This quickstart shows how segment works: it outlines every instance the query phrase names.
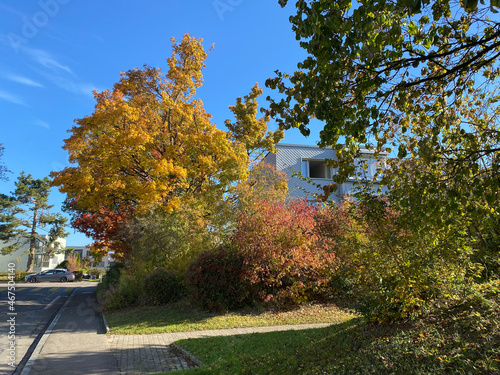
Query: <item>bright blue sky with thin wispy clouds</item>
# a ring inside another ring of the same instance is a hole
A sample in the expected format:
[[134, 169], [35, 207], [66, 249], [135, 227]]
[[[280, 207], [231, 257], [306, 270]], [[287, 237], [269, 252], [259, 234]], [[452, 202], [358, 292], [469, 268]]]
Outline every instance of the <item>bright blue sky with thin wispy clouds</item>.
[[[93, 112], [92, 90], [144, 64], [166, 69], [171, 37], [214, 44], [198, 96], [223, 128], [237, 97], [305, 57], [288, 21], [293, 11], [277, 0], [0, 0], [1, 161], [13, 172], [0, 192], [9, 194], [21, 171], [43, 178], [68, 166], [63, 141], [74, 119]], [[291, 130], [283, 142], [316, 144], [319, 129], [311, 130], [308, 138]], [[53, 189], [54, 210], [63, 200]], [[70, 232], [69, 246], [91, 243]]]

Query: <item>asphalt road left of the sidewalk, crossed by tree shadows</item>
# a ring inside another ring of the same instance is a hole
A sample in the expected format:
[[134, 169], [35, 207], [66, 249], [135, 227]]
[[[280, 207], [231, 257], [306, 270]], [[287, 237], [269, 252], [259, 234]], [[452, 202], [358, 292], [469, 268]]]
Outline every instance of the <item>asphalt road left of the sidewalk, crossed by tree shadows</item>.
[[16, 282], [10, 291], [6, 283], [0, 284], [0, 374], [12, 374], [29, 357], [51, 318], [83, 284]]

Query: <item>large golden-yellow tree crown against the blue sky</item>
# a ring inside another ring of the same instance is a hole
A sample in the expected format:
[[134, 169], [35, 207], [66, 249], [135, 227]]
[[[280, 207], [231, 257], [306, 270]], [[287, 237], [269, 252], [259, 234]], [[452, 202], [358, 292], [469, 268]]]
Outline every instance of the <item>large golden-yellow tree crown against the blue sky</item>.
[[166, 73], [149, 66], [122, 73], [112, 90], [95, 92], [94, 113], [71, 129], [64, 149], [73, 166], [52, 177], [77, 217], [171, 213], [193, 199], [222, 199], [245, 177], [245, 145], [217, 129], [196, 97], [202, 40], [172, 43]]

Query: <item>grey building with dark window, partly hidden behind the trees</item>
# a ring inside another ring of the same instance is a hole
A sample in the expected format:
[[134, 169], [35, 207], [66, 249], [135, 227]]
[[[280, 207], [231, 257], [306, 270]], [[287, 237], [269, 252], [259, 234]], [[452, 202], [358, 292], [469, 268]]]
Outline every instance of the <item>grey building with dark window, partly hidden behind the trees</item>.
[[[348, 179], [339, 186], [330, 199], [340, 201], [346, 195], [353, 192], [355, 184], [361, 181], [372, 180], [379, 166], [385, 167], [386, 155], [376, 158], [374, 152], [361, 149], [361, 157], [358, 161], [364, 161], [366, 170], [358, 162], [356, 176]], [[306, 198], [314, 200], [314, 194], [322, 191], [314, 185], [330, 185], [335, 170], [327, 165], [327, 160], [337, 160], [335, 150], [332, 148], [320, 148], [318, 146], [277, 144], [276, 153], [269, 153], [264, 162], [273, 165], [276, 170], [288, 175], [288, 195], [292, 198]], [[298, 174], [301, 174], [301, 178]], [[359, 176], [358, 176], [359, 173]], [[309, 183], [308, 180], [312, 182]], [[376, 184], [375, 184], [375, 187]]]

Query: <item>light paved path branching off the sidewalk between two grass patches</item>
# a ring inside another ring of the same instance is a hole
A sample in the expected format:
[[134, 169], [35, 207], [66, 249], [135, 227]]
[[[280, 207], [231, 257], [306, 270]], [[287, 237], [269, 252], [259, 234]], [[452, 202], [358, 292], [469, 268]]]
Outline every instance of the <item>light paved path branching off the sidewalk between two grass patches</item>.
[[234, 336], [273, 331], [323, 328], [330, 324], [304, 324], [256, 328], [234, 328], [213, 331], [158, 333], [151, 335], [108, 335], [108, 343], [124, 374], [150, 374], [187, 369], [199, 364], [174, 344], [181, 339]]

